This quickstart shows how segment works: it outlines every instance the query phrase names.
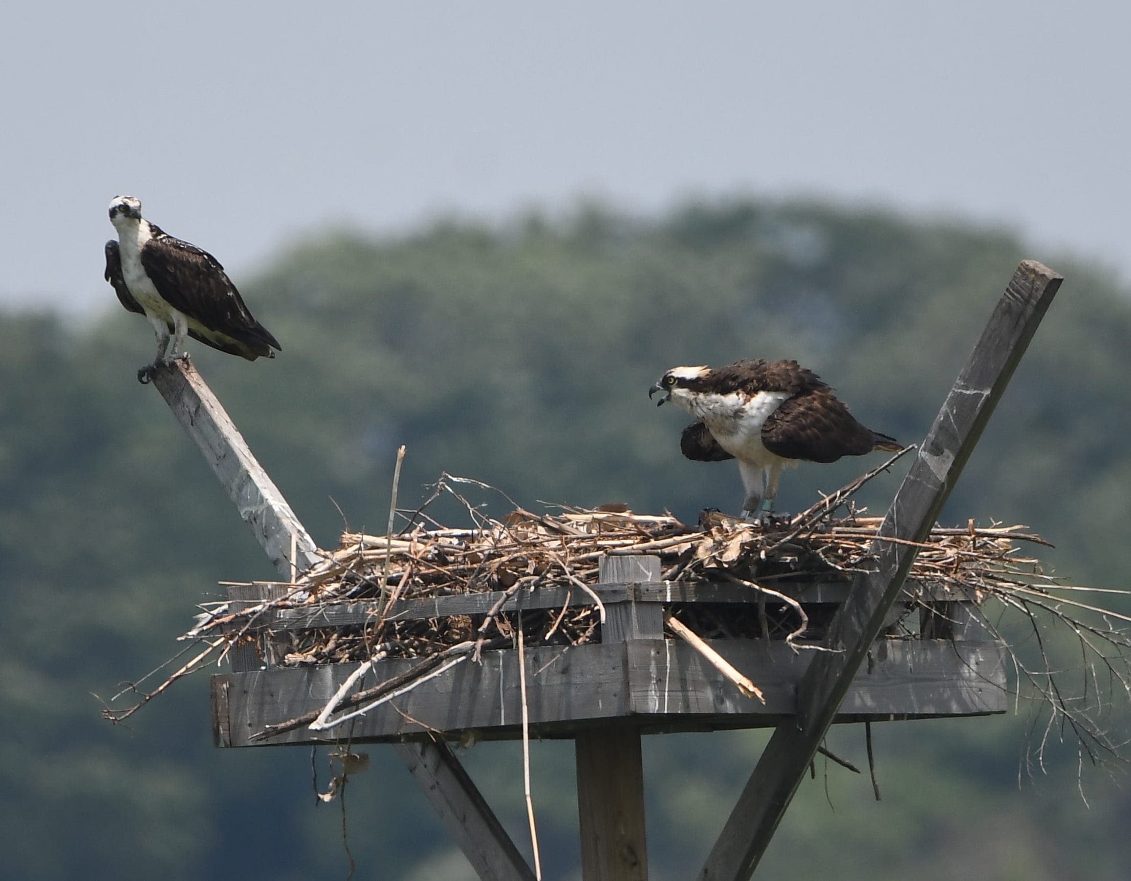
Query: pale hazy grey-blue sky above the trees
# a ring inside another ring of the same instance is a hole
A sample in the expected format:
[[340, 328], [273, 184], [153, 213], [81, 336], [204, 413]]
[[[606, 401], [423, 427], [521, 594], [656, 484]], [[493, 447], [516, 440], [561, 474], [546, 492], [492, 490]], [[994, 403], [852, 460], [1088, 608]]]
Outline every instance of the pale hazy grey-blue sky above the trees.
[[116, 303], [106, 206], [239, 284], [336, 226], [579, 195], [827, 194], [1004, 223], [1131, 278], [1117, 2], [20, 3], [0, 303]]

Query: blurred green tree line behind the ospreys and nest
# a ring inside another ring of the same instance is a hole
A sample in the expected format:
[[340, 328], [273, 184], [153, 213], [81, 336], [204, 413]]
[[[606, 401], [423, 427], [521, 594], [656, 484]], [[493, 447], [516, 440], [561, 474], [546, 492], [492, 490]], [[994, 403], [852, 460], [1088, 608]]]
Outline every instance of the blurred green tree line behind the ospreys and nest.
[[[107, 229], [107, 234], [109, 234]], [[97, 253], [100, 243], [90, 247]], [[216, 245], [223, 258], [223, 248]], [[381, 530], [395, 451], [404, 506], [441, 471], [519, 503], [627, 501], [694, 518], [735, 511], [733, 463], [682, 460], [685, 419], [648, 385], [681, 364], [796, 358], [870, 427], [920, 439], [1018, 261], [1065, 285], [943, 520], [1020, 522], [1078, 583], [1131, 569], [1131, 305], [1071, 259], [1008, 230], [821, 203], [691, 203], [658, 218], [602, 206], [503, 226], [444, 221], [402, 238], [335, 234], [280, 254], [245, 298], [283, 342], [247, 364], [191, 347], [198, 368], [316, 540]], [[93, 284], [93, 282], [92, 282]], [[23, 879], [344, 878], [337, 805], [316, 806], [302, 749], [215, 751], [207, 681], [176, 686], [128, 729], [101, 700], [180, 648], [221, 579], [274, 573], [159, 396], [133, 380], [145, 322], [107, 307], [84, 326], [0, 314], [0, 874]], [[861, 460], [802, 465], [780, 509]], [[881, 509], [892, 474], [869, 487]], [[506, 513], [492, 500], [490, 513]], [[768, 878], [1116, 879], [1131, 802], [1065, 749], [1021, 765], [1019, 716], [879, 725], [884, 801], [818, 766], [761, 870]], [[830, 747], [864, 764], [863, 734]], [[650, 738], [658, 881], [700, 865], [765, 735]], [[355, 878], [460, 879], [438, 822], [390, 751], [346, 791]], [[569, 744], [534, 750], [547, 879], [576, 878]], [[465, 754], [525, 840], [519, 756]], [[326, 780], [326, 756], [314, 757]], [[1020, 778], [1020, 787], [1018, 780]]]

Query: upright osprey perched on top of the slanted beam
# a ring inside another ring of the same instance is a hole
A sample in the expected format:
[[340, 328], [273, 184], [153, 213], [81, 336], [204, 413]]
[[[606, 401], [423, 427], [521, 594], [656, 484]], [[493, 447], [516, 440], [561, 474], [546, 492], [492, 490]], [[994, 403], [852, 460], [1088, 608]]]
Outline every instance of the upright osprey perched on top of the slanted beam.
[[283, 350], [251, 316], [219, 261], [143, 218], [141, 202], [132, 195], [114, 197], [110, 223], [119, 242], [106, 242], [105, 279], [121, 304], [145, 315], [157, 334], [157, 357], [138, 370], [139, 382], [149, 382], [174, 358], [188, 358], [185, 334], [249, 361], [274, 358], [273, 348]]

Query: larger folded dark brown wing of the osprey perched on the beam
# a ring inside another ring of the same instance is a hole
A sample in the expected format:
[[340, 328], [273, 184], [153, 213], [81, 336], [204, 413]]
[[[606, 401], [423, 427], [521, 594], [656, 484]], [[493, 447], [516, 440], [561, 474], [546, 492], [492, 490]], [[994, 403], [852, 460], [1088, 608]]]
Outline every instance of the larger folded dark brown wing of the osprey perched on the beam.
[[270, 357], [273, 347], [282, 350], [278, 341], [252, 317], [216, 258], [165, 235], [152, 224], [150, 227], [154, 238], [141, 248], [141, 265], [169, 305], [208, 330], [244, 343], [256, 355]]

